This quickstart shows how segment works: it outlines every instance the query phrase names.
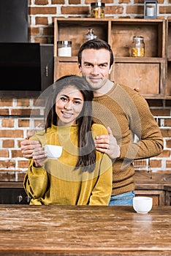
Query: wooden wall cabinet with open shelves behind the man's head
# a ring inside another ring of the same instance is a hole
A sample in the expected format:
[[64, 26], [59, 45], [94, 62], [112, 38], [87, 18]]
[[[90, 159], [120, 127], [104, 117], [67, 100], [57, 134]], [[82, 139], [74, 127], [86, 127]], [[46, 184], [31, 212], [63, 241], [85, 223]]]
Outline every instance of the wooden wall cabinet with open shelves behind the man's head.
[[[166, 84], [166, 21], [112, 18], [54, 19], [54, 80], [62, 75], [80, 75], [77, 53], [88, 29], [109, 42], [115, 56], [110, 79], [138, 89], [145, 98], [164, 98]], [[145, 56], [131, 56], [133, 36], [145, 41]], [[57, 56], [57, 41], [72, 41], [72, 57]], [[171, 53], [171, 49], [170, 49]], [[171, 58], [171, 54], [170, 54]], [[170, 61], [171, 69], [171, 61]], [[171, 90], [171, 89], [170, 89]], [[171, 93], [170, 93], [171, 95]]]

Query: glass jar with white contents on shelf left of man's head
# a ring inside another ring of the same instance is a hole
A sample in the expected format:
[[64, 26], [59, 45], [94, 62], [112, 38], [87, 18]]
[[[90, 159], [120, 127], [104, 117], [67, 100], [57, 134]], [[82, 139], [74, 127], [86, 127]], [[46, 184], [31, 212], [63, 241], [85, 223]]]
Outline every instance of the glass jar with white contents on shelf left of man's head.
[[58, 41], [57, 49], [58, 49], [59, 57], [71, 57], [72, 56], [72, 41]]

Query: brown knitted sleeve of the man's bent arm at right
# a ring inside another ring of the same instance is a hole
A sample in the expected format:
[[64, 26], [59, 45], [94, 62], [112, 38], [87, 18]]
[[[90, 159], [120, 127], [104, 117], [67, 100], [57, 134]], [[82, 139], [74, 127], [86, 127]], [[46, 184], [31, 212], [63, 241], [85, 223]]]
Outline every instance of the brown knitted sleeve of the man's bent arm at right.
[[137, 112], [129, 116], [132, 135], [137, 135], [137, 142], [121, 146], [121, 157], [143, 159], [159, 155], [163, 149], [163, 138], [146, 100], [137, 94], [134, 97]]

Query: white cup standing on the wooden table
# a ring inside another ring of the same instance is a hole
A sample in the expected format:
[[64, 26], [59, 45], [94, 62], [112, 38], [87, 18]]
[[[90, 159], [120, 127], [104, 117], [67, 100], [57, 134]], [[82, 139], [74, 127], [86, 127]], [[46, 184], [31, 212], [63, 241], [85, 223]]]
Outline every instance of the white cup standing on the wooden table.
[[133, 198], [133, 208], [138, 214], [148, 214], [153, 206], [152, 197], [134, 197]]

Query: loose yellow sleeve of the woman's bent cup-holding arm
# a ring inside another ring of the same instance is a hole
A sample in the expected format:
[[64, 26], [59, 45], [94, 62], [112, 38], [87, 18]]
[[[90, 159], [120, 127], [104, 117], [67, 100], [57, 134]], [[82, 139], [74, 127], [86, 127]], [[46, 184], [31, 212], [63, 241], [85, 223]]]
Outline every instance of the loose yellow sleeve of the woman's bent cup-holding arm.
[[23, 181], [23, 187], [29, 197], [39, 199], [47, 191], [48, 176], [43, 167], [34, 167], [34, 161], [28, 160], [28, 171]]

